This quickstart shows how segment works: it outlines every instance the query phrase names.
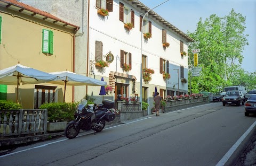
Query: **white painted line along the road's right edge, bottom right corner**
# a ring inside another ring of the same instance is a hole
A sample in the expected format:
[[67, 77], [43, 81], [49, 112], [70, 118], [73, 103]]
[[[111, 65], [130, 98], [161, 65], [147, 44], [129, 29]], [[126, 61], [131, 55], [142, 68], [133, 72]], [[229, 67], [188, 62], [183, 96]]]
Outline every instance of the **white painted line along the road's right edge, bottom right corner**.
[[246, 132], [237, 140], [237, 142], [229, 149], [229, 151], [223, 156], [223, 158], [217, 163], [216, 166], [223, 166], [228, 161], [230, 156], [236, 151], [236, 148], [242, 143], [244, 138], [251, 132], [253, 127], [256, 125], [256, 121], [249, 127]]

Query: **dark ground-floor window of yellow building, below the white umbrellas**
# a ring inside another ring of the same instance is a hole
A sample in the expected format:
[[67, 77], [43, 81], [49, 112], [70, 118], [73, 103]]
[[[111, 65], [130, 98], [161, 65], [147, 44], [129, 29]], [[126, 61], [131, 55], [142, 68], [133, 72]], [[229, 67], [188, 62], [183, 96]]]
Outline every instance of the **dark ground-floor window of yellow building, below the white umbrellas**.
[[58, 101], [57, 86], [35, 85], [34, 109], [38, 109], [44, 103]]

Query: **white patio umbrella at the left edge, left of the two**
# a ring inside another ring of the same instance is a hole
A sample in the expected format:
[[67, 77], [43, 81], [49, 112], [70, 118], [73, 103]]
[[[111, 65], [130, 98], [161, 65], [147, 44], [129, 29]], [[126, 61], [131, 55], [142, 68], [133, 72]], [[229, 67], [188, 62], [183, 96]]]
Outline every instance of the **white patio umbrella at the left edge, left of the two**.
[[2, 69], [0, 71], [0, 84], [17, 85], [16, 102], [18, 102], [19, 85], [39, 84], [56, 80], [57, 76], [38, 71], [37, 69], [20, 64]]

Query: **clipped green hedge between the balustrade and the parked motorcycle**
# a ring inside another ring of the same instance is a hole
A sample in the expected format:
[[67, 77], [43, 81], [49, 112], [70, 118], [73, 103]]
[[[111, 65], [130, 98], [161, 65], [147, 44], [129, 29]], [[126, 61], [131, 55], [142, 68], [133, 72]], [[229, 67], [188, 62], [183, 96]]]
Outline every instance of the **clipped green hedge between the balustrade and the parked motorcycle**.
[[47, 120], [50, 122], [70, 121], [74, 119], [77, 103], [46, 103], [39, 109], [47, 109]]

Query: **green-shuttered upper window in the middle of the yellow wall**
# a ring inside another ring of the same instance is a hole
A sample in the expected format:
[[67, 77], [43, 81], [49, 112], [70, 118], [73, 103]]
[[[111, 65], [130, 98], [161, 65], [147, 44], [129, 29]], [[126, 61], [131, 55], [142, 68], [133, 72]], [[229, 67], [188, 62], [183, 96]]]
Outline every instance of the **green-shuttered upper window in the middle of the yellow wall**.
[[53, 31], [43, 29], [42, 53], [53, 54]]

